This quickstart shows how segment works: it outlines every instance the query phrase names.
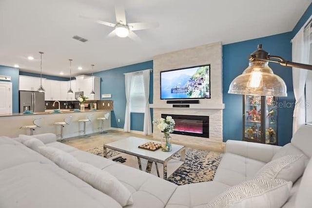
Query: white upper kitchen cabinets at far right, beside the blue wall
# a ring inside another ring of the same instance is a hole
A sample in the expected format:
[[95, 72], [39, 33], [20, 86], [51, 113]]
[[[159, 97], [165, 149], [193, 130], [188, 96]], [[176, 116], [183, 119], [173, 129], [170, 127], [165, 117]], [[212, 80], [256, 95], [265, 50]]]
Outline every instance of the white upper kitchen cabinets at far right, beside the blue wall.
[[[92, 85], [93, 79], [93, 85]], [[92, 89], [96, 93], [90, 95]], [[100, 77], [98, 76], [76, 76], [76, 90], [83, 91], [83, 95], [88, 97], [88, 100], [100, 99]]]

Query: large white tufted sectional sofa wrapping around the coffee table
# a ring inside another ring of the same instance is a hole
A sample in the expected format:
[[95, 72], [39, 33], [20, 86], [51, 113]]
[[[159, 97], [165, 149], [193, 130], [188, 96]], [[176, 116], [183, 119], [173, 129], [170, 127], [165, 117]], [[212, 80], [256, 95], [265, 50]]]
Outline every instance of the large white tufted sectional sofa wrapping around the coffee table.
[[[68, 152], [78, 161], [114, 175], [132, 194], [134, 203], [126, 208], [204, 208], [226, 189], [252, 179], [272, 159], [304, 154], [307, 168], [293, 184], [283, 208], [312, 208], [311, 135], [312, 127], [303, 126], [284, 147], [227, 141], [214, 181], [179, 187], [152, 174], [59, 143], [55, 134], [34, 137], [45, 146]], [[0, 208], [121, 207], [110, 196], [19, 141], [19, 138], [0, 137]]]

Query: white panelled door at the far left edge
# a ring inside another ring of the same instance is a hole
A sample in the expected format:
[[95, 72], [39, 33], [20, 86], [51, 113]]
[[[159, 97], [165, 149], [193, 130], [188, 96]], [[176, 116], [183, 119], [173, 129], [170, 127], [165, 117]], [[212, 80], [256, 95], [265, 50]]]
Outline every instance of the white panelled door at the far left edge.
[[0, 113], [12, 113], [12, 82], [0, 82]]

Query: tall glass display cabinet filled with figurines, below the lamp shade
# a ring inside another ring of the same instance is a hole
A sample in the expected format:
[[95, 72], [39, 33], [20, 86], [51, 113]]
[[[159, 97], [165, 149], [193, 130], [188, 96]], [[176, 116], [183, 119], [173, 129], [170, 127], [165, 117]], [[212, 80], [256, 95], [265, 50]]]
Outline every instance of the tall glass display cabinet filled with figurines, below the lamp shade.
[[243, 141], [277, 145], [277, 97], [243, 96]]

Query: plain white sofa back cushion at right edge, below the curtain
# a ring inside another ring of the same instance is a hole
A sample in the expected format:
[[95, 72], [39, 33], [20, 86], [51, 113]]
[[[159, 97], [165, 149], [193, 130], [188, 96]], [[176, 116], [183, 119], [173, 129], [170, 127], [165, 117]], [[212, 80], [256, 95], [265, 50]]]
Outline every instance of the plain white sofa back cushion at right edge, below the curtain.
[[303, 125], [292, 136], [293, 146], [303, 151], [309, 158], [312, 156], [312, 126]]

